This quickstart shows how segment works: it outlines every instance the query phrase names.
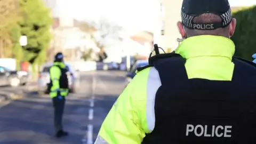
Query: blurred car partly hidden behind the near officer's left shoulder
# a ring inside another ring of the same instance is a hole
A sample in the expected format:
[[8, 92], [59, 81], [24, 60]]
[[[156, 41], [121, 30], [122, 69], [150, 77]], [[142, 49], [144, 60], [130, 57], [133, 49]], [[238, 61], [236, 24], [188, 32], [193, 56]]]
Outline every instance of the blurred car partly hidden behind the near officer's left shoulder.
[[148, 65], [148, 60], [137, 60], [130, 71], [127, 71], [126, 74], [126, 85], [129, 84], [133, 77], [136, 75], [137, 68], [147, 66]]

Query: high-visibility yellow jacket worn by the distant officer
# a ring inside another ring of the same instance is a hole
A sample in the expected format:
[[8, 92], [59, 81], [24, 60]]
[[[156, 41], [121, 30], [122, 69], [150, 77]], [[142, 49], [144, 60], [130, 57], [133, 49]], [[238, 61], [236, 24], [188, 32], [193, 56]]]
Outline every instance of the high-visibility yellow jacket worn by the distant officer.
[[60, 94], [62, 96], [68, 95], [68, 89], [60, 89], [59, 79], [61, 76], [61, 69], [57, 66], [60, 66], [61, 68], [66, 68], [65, 63], [63, 62], [54, 62], [53, 66], [50, 68], [50, 78], [52, 80], [52, 87], [50, 91], [51, 98], [57, 96], [57, 91], [60, 91]]

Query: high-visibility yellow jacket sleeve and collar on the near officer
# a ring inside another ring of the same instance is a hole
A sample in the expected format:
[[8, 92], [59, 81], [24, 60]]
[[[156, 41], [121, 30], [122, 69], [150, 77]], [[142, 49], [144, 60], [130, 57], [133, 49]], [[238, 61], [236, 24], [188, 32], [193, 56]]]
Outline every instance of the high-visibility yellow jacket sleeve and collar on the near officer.
[[[188, 78], [231, 81], [234, 43], [221, 36], [194, 36], [177, 48], [186, 58]], [[101, 125], [96, 144], [141, 143], [155, 126], [155, 95], [161, 81], [154, 67], [140, 71], [119, 96]]]

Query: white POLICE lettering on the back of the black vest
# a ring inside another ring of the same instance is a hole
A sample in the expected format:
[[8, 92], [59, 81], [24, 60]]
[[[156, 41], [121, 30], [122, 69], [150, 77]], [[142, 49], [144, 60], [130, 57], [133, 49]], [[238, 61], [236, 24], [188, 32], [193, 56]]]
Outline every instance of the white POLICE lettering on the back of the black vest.
[[197, 137], [225, 137], [231, 138], [231, 125], [191, 125], [187, 124], [186, 136], [191, 134]]

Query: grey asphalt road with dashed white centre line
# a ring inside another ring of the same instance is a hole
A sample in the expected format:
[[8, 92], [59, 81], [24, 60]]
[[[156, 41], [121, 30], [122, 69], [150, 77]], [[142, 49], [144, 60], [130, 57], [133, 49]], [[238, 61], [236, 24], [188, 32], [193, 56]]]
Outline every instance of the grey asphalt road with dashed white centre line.
[[[49, 95], [27, 93], [0, 108], [0, 143], [93, 143], [101, 123], [125, 86], [122, 71], [81, 74], [81, 91], [66, 101], [63, 126], [69, 136], [57, 139]], [[1, 87], [7, 91], [13, 88]], [[17, 90], [22, 88], [17, 88]]]

